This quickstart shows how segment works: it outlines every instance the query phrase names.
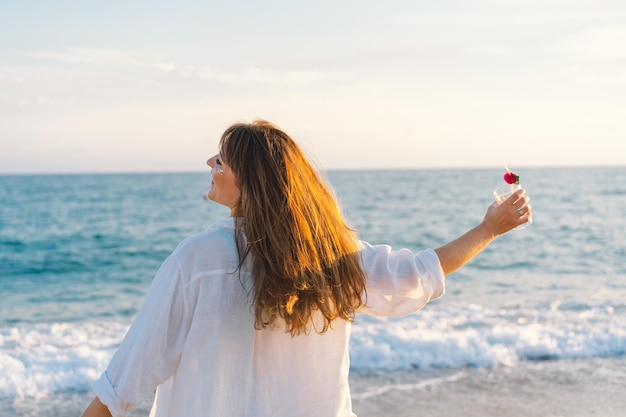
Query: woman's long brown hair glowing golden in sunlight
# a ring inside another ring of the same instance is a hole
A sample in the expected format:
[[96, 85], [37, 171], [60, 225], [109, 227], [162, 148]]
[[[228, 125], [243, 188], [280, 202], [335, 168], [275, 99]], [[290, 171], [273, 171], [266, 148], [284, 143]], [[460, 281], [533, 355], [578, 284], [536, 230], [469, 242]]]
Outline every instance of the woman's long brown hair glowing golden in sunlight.
[[[298, 145], [257, 120], [229, 127], [220, 151], [241, 191], [233, 213], [240, 267], [252, 255], [255, 327], [280, 317], [295, 336], [353, 321], [365, 297], [359, 243]], [[314, 325], [316, 311], [322, 323]]]

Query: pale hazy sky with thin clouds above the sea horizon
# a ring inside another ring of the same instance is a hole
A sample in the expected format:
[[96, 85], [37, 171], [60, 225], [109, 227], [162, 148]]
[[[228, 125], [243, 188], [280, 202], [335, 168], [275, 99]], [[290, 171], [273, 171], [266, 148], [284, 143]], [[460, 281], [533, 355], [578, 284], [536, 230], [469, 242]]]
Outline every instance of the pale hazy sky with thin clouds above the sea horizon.
[[626, 2], [2, 1], [0, 173], [626, 165]]

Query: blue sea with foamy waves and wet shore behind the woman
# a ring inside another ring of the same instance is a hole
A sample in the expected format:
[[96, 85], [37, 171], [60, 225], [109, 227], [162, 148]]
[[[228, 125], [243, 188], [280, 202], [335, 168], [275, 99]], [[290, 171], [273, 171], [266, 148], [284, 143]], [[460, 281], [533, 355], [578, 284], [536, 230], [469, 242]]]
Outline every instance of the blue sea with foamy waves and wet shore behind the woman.
[[[357, 317], [359, 417], [626, 415], [611, 402], [626, 392], [626, 167], [515, 171], [530, 227], [498, 237], [420, 312]], [[324, 176], [361, 239], [419, 251], [477, 225], [503, 174]], [[160, 264], [228, 216], [204, 198], [210, 182], [208, 172], [0, 176], [0, 416], [81, 414]], [[446, 395], [458, 413], [437, 414], [433, 397]], [[402, 402], [431, 413], [403, 414]]]

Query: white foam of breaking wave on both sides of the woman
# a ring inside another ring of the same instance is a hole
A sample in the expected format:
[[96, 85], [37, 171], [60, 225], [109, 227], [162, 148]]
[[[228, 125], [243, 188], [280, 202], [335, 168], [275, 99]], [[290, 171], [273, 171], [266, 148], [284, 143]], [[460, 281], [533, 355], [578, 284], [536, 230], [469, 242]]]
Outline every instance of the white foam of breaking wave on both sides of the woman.
[[[360, 316], [353, 326], [351, 366], [355, 371], [454, 370], [620, 356], [626, 353], [626, 318], [615, 310], [471, 305], [439, 306], [402, 319]], [[91, 322], [0, 328], [0, 399], [88, 391], [126, 330], [120, 323]]]

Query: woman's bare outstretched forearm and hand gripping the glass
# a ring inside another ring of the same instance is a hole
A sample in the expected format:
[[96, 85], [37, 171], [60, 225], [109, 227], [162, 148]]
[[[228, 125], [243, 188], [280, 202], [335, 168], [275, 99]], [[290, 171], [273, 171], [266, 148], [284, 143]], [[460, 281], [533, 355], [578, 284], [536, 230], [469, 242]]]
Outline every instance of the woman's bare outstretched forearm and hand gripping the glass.
[[532, 214], [528, 201], [525, 191], [519, 190], [501, 204], [493, 203], [478, 226], [435, 249], [444, 274], [448, 275], [468, 263], [499, 235], [526, 223]]

